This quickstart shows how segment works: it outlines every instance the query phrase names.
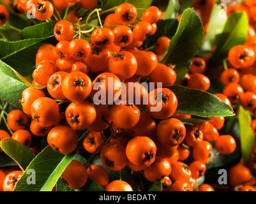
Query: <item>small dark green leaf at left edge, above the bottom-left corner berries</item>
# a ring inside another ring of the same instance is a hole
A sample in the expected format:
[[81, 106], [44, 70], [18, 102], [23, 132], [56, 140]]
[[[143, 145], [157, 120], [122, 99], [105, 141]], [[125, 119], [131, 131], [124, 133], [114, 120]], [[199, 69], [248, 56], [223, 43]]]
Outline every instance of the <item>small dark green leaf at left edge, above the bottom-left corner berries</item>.
[[1, 140], [1, 149], [17, 163], [23, 171], [26, 170], [29, 163], [36, 156], [31, 149], [12, 138], [4, 138]]

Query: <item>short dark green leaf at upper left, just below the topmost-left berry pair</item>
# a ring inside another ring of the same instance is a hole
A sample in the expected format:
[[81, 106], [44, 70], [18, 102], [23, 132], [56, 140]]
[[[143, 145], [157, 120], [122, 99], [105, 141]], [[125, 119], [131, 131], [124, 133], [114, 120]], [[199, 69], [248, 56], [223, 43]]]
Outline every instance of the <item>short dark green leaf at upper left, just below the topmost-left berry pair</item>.
[[20, 31], [24, 39], [50, 38], [54, 36], [54, 25], [57, 21], [43, 22], [41, 24], [26, 27]]

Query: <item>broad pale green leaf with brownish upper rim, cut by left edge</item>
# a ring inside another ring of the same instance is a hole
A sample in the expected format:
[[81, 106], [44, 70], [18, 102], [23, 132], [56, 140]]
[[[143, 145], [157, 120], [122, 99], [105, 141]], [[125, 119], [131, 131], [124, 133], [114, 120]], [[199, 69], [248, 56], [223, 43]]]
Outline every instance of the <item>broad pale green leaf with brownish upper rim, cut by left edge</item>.
[[19, 100], [24, 89], [29, 87], [29, 82], [24, 78], [22, 80], [17, 71], [2, 61], [0, 61], [0, 78], [0, 99], [16, 108], [21, 108]]

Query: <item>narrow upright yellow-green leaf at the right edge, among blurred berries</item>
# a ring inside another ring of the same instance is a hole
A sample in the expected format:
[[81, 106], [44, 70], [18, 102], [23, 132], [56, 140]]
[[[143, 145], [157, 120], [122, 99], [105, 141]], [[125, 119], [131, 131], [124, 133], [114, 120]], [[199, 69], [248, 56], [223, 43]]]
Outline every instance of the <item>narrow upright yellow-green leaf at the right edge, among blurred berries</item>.
[[241, 153], [244, 163], [248, 164], [250, 161], [250, 153], [252, 152], [252, 148], [255, 144], [255, 136], [253, 135], [252, 128], [250, 126], [252, 118], [250, 116], [250, 112], [245, 110], [243, 106], [239, 105], [237, 119], [240, 129]]

